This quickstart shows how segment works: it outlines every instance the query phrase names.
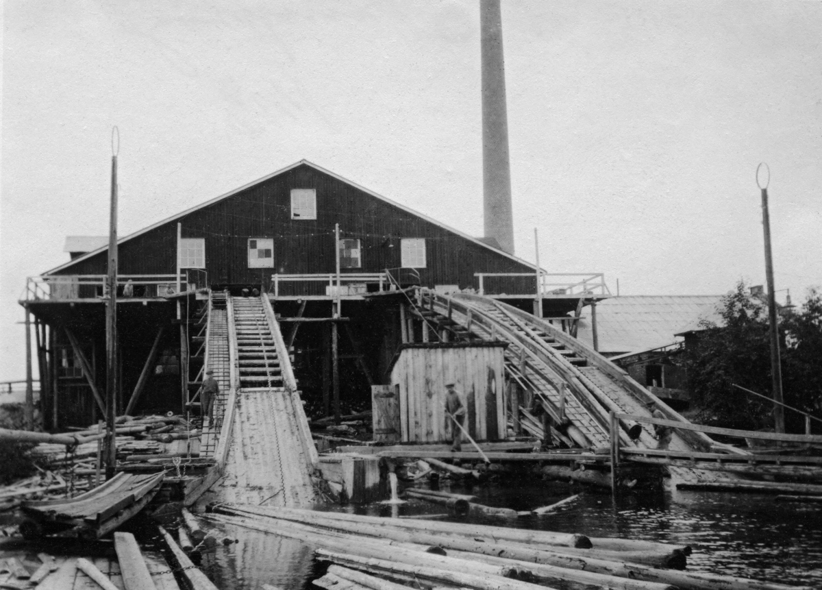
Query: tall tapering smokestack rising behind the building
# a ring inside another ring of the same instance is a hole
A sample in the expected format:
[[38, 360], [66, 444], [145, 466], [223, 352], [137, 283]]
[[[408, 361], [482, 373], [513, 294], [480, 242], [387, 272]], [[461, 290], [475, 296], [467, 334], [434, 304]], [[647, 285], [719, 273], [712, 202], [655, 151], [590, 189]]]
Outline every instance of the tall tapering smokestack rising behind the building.
[[483, 61], [483, 194], [485, 237], [514, 253], [514, 218], [508, 161], [506, 69], [502, 57], [500, 0], [480, 0]]

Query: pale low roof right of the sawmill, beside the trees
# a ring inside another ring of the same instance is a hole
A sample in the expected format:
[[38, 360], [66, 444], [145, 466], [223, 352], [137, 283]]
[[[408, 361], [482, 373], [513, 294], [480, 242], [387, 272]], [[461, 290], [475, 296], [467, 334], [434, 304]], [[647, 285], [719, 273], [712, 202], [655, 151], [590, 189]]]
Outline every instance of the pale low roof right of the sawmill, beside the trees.
[[[677, 342], [674, 334], [696, 330], [700, 320], [720, 321], [722, 295], [635, 295], [597, 303], [599, 352], [635, 353]], [[586, 307], [578, 338], [593, 344], [591, 310]]]

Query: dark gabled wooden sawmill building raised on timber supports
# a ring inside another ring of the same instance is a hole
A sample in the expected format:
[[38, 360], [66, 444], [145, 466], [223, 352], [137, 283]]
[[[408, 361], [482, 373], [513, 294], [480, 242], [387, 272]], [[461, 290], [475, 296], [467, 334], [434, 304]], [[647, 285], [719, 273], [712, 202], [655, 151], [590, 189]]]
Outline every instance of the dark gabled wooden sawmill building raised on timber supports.
[[[118, 258], [118, 412], [135, 390], [134, 413], [180, 411], [196, 389], [196, 318], [208, 288], [269, 294], [309, 414], [327, 411], [335, 297], [342, 397], [369, 400], [369, 384], [390, 383], [403, 288], [469, 289], [528, 311], [536, 288], [527, 261], [305, 160], [121, 237]], [[99, 247], [28, 280], [21, 303], [35, 325], [46, 428], [101, 417], [106, 273], [107, 248]], [[579, 301], [557, 291], [543, 314], [579, 309]]]

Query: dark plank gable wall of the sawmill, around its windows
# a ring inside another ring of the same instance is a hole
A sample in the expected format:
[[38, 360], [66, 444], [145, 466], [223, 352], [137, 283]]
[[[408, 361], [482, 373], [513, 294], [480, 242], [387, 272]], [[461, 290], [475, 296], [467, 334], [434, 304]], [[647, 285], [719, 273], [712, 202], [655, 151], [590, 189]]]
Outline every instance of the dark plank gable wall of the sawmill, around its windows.
[[[317, 219], [291, 219], [290, 190], [316, 189]], [[274, 273], [335, 271], [334, 227], [340, 237], [361, 240], [363, 267], [344, 272], [378, 272], [400, 266], [403, 237], [426, 238], [427, 268], [421, 283], [478, 283], [475, 272], [531, 272], [507, 256], [399, 209], [308, 164], [301, 164], [234, 196], [173, 220], [120, 247], [121, 274], [168, 274], [176, 267], [177, 223], [182, 237], [205, 238], [210, 284], [258, 284]], [[274, 238], [275, 269], [249, 269], [249, 237]], [[61, 274], [105, 274], [105, 253], [72, 265]], [[533, 279], [506, 282], [507, 293], [533, 291]], [[504, 289], [505, 290], [505, 289]]]

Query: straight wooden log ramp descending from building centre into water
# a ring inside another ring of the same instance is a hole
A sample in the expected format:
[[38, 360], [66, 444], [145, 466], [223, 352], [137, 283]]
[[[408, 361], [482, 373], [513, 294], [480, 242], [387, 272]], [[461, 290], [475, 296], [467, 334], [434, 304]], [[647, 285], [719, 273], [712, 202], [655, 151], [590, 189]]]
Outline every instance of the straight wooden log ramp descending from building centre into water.
[[265, 294], [227, 300], [229, 399], [217, 444], [221, 476], [209, 501], [307, 506], [317, 455], [291, 360]]

